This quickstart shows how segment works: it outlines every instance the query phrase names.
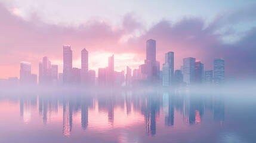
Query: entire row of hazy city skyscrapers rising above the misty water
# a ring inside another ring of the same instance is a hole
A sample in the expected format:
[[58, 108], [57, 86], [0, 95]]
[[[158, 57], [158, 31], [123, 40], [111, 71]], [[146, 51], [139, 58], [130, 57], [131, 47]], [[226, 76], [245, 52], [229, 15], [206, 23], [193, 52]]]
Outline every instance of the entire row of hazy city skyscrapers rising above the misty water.
[[[127, 66], [126, 72], [115, 71], [114, 55], [108, 58], [108, 66], [95, 70], [88, 68], [88, 51], [81, 51], [81, 69], [73, 67], [72, 49], [69, 45], [63, 46], [63, 72], [58, 72], [58, 65], [51, 64], [48, 57], [43, 57], [39, 63], [39, 75], [31, 73], [31, 64], [20, 63], [21, 85], [85, 85], [85, 86], [189, 86], [195, 84], [224, 83], [224, 60], [214, 60], [213, 70], [204, 70], [204, 65], [196, 58], [183, 59], [181, 69], [174, 70], [174, 52], [165, 54], [165, 63], [160, 69], [160, 62], [156, 60], [156, 41], [146, 41], [146, 60], [138, 69], [132, 70]], [[18, 82], [17, 77], [10, 77], [8, 82]]]

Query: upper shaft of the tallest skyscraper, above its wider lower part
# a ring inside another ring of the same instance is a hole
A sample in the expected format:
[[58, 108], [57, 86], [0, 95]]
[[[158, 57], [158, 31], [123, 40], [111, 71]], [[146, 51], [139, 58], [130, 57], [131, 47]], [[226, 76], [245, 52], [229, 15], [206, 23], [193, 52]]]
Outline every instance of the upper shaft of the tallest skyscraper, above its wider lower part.
[[149, 39], [146, 42], [146, 60], [152, 61], [152, 64], [156, 63], [156, 41]]

